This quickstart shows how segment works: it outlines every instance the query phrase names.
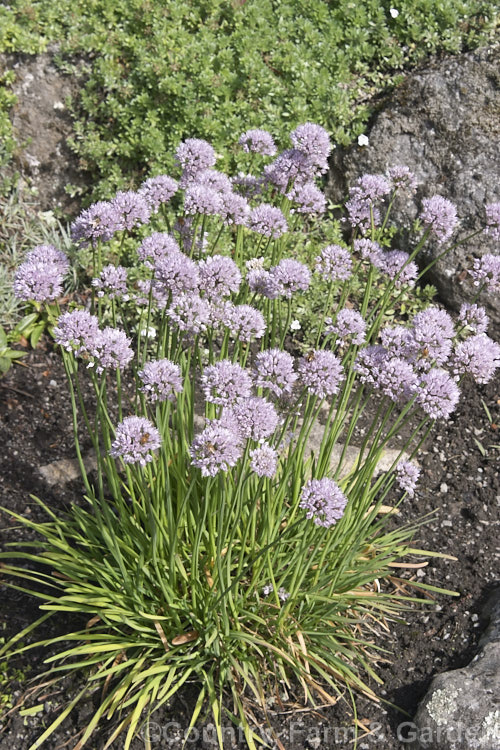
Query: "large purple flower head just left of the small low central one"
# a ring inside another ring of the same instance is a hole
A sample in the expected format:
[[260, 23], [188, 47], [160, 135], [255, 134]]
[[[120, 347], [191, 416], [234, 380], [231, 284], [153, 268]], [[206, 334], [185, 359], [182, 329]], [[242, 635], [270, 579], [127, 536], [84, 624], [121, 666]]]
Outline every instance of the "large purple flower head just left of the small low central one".
[[243, 452], [241, 437], [222, 422], [210, 422], [193, 440], [189, 453], [202, 476], [214, 477], [235, 466]]

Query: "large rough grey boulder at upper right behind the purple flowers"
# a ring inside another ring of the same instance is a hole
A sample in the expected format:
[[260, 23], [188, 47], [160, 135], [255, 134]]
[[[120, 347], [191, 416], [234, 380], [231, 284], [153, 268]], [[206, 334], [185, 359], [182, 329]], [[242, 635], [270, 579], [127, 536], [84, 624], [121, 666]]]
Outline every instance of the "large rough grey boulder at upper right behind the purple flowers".
[[[421, 200], [443, 195], [457, 206], [465, 237], [484, 226], [484, 205], [500, 200], [500, 44], [474, 53], [434, 60], [411, 73], [373, 118], [369, 146], [337, 148], [333, 153], [328, 192], [338, 202], [364, 173], [407, 165], [420, 185], [405, 195], [392, 218], [404, 227], [398, 246], [411, 245], [408, 229]], [[429, 253], [437, 247], [429, 245]], [[498, 253], [498, 243], [481, 234], [450, 252], [434, 267], [429, 280], [452, 309], [470, 301], [475, 287], [464, 273], [471, 256]], [[421, 259], [426, 265], [428, 258]], [[493, 328], [500, 331], [498, 294], [483, 294]]]

